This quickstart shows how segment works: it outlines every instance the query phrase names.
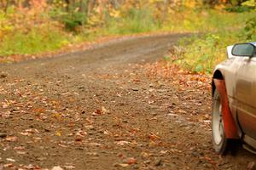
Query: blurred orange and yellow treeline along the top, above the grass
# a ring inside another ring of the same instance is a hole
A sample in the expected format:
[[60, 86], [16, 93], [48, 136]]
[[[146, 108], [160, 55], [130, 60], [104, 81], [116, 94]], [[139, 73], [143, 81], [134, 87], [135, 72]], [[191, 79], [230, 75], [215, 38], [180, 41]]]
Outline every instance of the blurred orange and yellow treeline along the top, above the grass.
[[67, 30], [76, 31], [79, 26], [102, 27], [111, 22], [110, 19], [151, 17], [150, 13], [153, 13], [154, 20], [163, 22], [167, 14], [183, 7], [214, 8], [224, 4], [231, 7], [230, 12], [242, 12], [247, 10], [240, 8], [244, 2], [251, 0], [0, 0], [0, 12], [8, 13], [9, 9], [12, 13], [23, 11], [27, 18], [28, 12], [23, 9], [32, 9], [31, 16], [35, 13], [38, 16], [48, 14], [50, 19], [59, 21]]

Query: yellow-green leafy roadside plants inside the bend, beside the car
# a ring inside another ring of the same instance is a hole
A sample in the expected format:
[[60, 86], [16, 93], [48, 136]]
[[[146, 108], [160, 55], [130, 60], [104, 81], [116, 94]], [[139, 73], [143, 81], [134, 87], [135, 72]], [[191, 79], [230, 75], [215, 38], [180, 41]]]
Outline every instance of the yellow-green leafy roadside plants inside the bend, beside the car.
[[171, 60], [185, 70], [210, 74], [215, 65], [226, 59], [227, 46], [244, 41], [240, 34], [241, 31], [218, 31], [183, 38], [171, 54]]

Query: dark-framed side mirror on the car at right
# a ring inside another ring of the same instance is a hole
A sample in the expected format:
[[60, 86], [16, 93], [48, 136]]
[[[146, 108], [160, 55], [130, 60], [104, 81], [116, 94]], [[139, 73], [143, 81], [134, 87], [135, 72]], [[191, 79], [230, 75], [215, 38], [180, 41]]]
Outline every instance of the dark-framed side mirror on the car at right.
[[252, 43], [236, 43], [232, 48], [232, 55], [253, 57], [255, 54], [255, 46]]

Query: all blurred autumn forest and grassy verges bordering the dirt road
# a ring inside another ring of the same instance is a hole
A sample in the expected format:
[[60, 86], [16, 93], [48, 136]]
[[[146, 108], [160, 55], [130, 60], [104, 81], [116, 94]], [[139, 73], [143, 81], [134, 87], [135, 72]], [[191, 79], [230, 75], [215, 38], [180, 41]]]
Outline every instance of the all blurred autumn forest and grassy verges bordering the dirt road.
[[200, 32], [201, 36], [180, 41], [165, 59], [189, 71], [210, 73], [212, 65], [224, 59], [227, 45], [255, 38], [255, 4], [254, 0], [2, 0], [1, 60], [52, 53], [102, 37]]

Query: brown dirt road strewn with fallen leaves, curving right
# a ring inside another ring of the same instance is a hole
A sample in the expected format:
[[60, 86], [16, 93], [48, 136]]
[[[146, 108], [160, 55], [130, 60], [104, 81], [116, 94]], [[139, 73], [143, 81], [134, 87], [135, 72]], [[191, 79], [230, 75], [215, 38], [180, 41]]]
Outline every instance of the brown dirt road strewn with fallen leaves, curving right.
[[148, 76], [183, 36], [0, 65], [0, 169], [246, 169], [212, 150], [207, 88]]

